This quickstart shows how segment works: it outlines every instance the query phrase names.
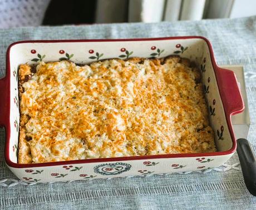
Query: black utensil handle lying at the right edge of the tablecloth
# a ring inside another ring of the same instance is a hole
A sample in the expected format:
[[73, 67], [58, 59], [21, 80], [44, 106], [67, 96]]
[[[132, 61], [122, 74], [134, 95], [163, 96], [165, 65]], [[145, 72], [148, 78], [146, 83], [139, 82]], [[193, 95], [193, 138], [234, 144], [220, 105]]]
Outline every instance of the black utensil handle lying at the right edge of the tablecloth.
[[237, 140], [237, 153], [240, 160], [244, 182], [248, 191], [256, 196], [256, 159], [247, 139]]

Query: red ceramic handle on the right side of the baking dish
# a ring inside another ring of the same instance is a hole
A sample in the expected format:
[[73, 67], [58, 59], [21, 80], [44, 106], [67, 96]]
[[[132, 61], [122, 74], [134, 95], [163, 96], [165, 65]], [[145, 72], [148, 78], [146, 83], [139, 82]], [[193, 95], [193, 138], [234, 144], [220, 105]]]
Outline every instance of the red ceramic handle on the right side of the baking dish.
[[227, 116], [238, 114], [244, 110], [244, 102], [233, 71], [218, 68], [218, 84], [220, 96]]

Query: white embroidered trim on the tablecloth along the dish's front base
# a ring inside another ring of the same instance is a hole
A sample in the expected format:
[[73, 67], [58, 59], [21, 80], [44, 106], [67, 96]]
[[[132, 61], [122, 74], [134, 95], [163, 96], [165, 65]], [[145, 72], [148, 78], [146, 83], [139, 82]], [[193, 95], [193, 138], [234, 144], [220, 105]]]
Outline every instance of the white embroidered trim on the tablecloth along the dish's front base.
[[[188, 174], [188, 173], [209, 173], [211, 171], [216, 171], [216, 172], [226, 172], [226, 171], [229, 171], [231, 169], [235, 169], [235, 170], [238, 170], [240, 171], [241, 168], [238, 167], [240, 163], [234, 163], [232, 165], [230, 164], [227, 164], [227, 163], [223, 163], [220, 167], [218, 168], [213, 168], [213, 169], [203, 169], [201, 171], [189, 171], [189, 172], [179, 172], [179, 174]], [[147, 174], [147, 175], [137, 175], [137, 176], [140, 176], [140, 177], [150, 177], [152, 175], [160, 175], [160, 176], [165, 176], [165, 175], [169, 175], [171, 173], [163, 173], [163, 174]], [[131, 178], [131, 177], [137, 177], [137, 176], [129, 176], [129, 177], [123, 177], [123, 178]], [[110, 178], [107, 178], [107, 179], [112, 179], [114, 177], [110, 177]], [[120, 177], [119, 177], [120, 178]], [[76, 181], [76, 180], [72, 180], [72, 181], [67, 181], [67, 182], [73, 182], [73, 181]], [[11, 182], [11, 183], [10, 183]], [[48, 182], [48, 184], [50, 183], [54, 183], [54, 182]], [[18, 184], [23, 184], [23, 185], [34, 185], [36, 184], [35, 183], [27, 183], [27, 182], [23, 182], [22, 180], [17, 180], [17, 179], [13, 179], [13, 178], [5, 178], [5, 179], [2, 179], [0, 180], [0, 186], [2, 187], [13, 187], [13, 186], [16, 186]]]

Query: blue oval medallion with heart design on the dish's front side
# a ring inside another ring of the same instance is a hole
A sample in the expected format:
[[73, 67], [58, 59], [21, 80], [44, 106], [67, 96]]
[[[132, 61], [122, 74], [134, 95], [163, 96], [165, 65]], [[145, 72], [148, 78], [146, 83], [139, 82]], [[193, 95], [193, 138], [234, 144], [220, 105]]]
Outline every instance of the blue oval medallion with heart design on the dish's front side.
[[127, 163], [105, 163], [95, 166], [94, 172], [102, 175], [116, 175], [129, 171], [130, 168], [131, 165]]

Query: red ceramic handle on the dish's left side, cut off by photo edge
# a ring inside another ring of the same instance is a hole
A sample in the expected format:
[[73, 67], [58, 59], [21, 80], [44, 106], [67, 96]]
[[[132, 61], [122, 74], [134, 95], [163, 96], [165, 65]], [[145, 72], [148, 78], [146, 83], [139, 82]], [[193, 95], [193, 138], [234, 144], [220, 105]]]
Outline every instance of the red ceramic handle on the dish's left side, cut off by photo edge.
[[3, 127], [6, 125], [6, 116], [8, 111], [8, 101], [7, 101], [7, 88], [8, 87], [8, 80], [7, 77], [4, 77], [0, 79], [0, 96], [1, 96], [1, 101], [0, 101], [0, 126]]

